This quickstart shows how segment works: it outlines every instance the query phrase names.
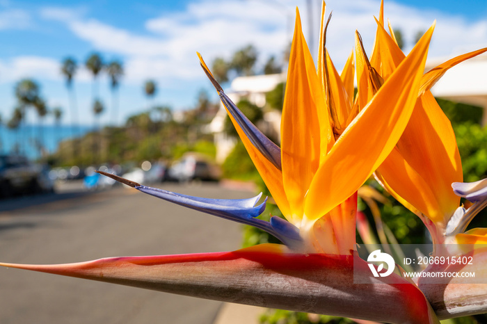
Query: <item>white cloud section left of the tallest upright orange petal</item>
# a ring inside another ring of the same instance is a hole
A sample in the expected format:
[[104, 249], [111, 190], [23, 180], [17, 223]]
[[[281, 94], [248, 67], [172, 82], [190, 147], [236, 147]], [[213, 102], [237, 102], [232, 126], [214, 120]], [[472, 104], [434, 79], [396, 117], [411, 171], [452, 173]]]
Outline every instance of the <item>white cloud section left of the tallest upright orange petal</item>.
[[[213, 8], [213, 9], [212, 9]], [[147, 77], [204, 78], [195, 51], [208, 61], [229, 57], [233, 51], [254, 44], [263, 58], [280, 55], [290, 40], [286, 16], [265, 3], [203, 1], [191, 3], [182, 13], [150, 19], [147, 35], [136, 35], [95, 19], [76, 18], [78, 13], [46, 8], [42, 17], [65, 22], [79, 38], [99, 51], [124, 56], [125, 81]]]

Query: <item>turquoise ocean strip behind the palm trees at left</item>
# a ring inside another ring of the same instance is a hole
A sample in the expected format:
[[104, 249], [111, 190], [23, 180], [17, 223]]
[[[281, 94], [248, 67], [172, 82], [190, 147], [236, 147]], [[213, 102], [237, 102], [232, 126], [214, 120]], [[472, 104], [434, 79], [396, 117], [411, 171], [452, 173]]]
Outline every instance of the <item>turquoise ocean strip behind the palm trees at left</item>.
[[39, 146], [51, 154], [56, 152], [61, 141], [81, 137], [92, 129], [92, 127], [79, 125], [72, 127], [26, 124], [17, 129], [2, 126], [0, 127], [0, 152], [10, 154], [17, 151], [35, 160], [41, 156]]

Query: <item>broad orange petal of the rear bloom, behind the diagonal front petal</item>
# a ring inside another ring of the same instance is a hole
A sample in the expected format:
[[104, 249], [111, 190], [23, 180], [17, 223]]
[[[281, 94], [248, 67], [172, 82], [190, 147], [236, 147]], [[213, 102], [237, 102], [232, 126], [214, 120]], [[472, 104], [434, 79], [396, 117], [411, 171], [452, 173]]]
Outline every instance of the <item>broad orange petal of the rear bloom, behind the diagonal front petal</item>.
[[461, 159], [452, 125], [431, 92], [417, 101], [396, 149], [378, 173], [388, 191], [411, 211], [420, 211], [441, 227], [453, 215], [460, 197], [451, 184], [463, 179]]

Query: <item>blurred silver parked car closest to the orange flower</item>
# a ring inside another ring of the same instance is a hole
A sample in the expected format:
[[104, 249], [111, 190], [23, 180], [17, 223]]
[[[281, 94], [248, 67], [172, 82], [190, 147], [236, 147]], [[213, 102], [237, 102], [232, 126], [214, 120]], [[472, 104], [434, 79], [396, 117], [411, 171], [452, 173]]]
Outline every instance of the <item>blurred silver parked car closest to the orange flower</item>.
[[220, 176], [221, 171], [217, 165], [196, 154], [186, 154], [168, 170], [168, 179], [179, 182], [194, 179], [217, 181]]

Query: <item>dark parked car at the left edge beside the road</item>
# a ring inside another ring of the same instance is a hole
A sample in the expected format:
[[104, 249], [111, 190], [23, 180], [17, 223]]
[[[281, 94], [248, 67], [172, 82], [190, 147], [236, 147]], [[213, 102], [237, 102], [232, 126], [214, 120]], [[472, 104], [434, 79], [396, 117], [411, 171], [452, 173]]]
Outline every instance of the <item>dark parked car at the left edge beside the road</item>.
[[53, 190], [47, 167], [35, 165], [22, 155], [0, 155], [0, 197]]

